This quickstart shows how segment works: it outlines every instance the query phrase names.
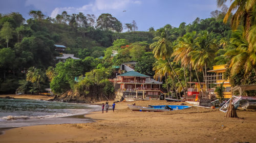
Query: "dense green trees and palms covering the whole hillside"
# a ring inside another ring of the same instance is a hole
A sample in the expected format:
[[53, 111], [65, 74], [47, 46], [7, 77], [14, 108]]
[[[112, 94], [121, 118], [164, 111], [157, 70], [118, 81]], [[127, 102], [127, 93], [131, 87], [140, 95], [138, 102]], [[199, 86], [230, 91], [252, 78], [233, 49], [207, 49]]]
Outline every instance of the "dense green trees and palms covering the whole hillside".
[[[255, 4], [231, 1], [227, 8], [224, 2], [218, 1], [222, 10], [211, 12], [211, 18], [149, 32], [136, 32], [132, 21], [120, 33], [123, 25], [111, 14], [96, 19], [64, 11], [50, 18], [30, 11], [26, 22], [19, 13], [1, 14], [0, 92], [38, 93], [50, 87], [55, 94], [72, 90], [86, 96], [97, 87], [108, 95], [114, 92], [108, 79], [118, 72], [113, 67], [130, 61], [137, 62], [136, 71], [163, 80], [167, 92], [186, 91], [188, 81], [205, 81], [207, 70], [221, 64], [232, 86], [255, 84]], [[60, 53], [54, 44], [65, 45], [65, 53], [80, 60], [56, 63]]]

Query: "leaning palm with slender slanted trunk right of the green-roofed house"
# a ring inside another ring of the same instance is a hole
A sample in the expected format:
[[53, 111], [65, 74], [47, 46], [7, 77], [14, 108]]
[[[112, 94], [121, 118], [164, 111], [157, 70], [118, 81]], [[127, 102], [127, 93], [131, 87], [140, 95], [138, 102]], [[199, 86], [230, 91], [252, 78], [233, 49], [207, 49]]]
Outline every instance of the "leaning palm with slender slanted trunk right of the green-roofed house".
[[162, 28], [162, 32], [159, 36], [155, 37], [153, 40], [156, 40], [156, 42], [152, 43], [150, 45], [151, 48], [153, 48], [153, 53], [155, 58], [157, 59], [167, 59], [168, 64], [170, 66], [170, 68], [172, 69], [172, 71], [174, 72], [176, 78], [178, 79], [178, 81], [180, 82], [182, 89], [185, 92], [185, 89], [179, 79], [179, 77], [177, 76], [176, 72], [173, 69], [172, 64], [170, 64], [169, 58], [172, 55], [172, 42], [170, 42], [170, 36], [168, 36], [168, 28]]

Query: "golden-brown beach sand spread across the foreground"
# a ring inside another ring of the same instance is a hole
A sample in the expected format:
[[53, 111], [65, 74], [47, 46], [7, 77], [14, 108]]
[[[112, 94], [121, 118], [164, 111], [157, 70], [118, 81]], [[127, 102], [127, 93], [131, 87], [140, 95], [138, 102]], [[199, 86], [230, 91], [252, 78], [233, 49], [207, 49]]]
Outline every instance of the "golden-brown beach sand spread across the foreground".
[[[10, 129], [0, 135], [0, 142], [256, 142], [255, 111], [237, 110], [240, 118], [224, 118], [225, 113], [218, 109], [201, 107], [165, 112], [131, 111], [127, 104], [133, 103], [118, 102], [115, 112], [86, 115], [95, 119], [93, 123]], [[159, 100], [135, 103], [181, 104]]]

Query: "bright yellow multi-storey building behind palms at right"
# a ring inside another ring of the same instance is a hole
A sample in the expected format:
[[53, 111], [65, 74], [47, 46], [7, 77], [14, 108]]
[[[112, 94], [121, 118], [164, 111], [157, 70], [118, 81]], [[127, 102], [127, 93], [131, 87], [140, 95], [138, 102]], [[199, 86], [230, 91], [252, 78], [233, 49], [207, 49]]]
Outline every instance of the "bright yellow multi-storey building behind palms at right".
[[217, 86], [220, 86], [221, 83], [223, 87], [225, 87], [224, 98], [231, 98], [231, 85], [229, 84], [229, 80], [224, 80], [223, 74], [226, 71], [225, 65], [213, 66], [213, 70], [209, 70], [208, 72], [214, 72], [215, 74], [210, 76], [211, 80], [214, 79], [214, 83]]

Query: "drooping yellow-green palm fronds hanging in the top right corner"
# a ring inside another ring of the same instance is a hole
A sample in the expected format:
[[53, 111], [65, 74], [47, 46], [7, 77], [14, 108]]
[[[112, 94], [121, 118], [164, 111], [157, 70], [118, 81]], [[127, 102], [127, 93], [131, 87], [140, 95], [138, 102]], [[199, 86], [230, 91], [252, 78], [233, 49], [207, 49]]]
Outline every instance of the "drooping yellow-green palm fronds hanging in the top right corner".
[[[217, 0], [219, 7], [223, 6], [227, 0]], [[229, 15], [232, 11], [236, 11], [231, 18], [231, 27], [233, 30], [237, 30], [240, 22], [244, 27], [244, 37], [248, 37], [248, 31], [252, 26], [251, 17], [253, 16], [252, 11], [255, 10], [256, 0], [231, 0], [230, 5], [223, 22], [227, 22]]]

